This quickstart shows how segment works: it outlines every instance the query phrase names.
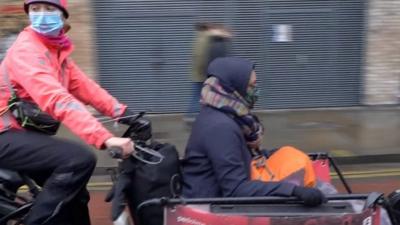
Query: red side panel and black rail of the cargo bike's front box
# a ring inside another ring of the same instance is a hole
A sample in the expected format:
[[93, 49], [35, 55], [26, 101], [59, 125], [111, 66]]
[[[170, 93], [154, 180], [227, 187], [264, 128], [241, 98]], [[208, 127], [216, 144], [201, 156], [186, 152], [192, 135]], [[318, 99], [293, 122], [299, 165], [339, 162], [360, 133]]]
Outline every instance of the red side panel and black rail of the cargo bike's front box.
[[[251, 218], [254, 218], [254, 220], [275, 221], [272, 224], [276, 224], [277, 221], [297, 224], [297, 220], [314, 218], [312, 219], [315, 222], [313, 224], [321, 224], [316, 221], [326, 221], [328, 218], [341, 218], [344, 221], [351, 220], [352, 217], [364, 218], [365, 221], [369, 220], [370, 223], [368, 224], [371, 225], [380, 225], [380, 213], [381, 209], [384, 208], [387, 210], [392, 223], [394, 225], [398, 224], [387, 199], [382, 193], [337, 194], [326, 197], [327, 203], [318, 207], [306, 207], [295, 197], [160, 198], [142, 203], [137, 210], [140, 212], [150, 206], [163, 207], [164, 218], [166, 219], [165, 224], [168, 225], [180, 224], [177, 223], [177, 220], [182, 218], [197, 221], [199, 224], [207, 224], [205, 221], [213, 221], [212, 224], [218, 224], [216, 221], [231, 221], [232, 224], [243, 224], [240, 221], [252, 220]], [[363, 209], [355, 211], [349, 200], [362, 201], [364, 204]]]

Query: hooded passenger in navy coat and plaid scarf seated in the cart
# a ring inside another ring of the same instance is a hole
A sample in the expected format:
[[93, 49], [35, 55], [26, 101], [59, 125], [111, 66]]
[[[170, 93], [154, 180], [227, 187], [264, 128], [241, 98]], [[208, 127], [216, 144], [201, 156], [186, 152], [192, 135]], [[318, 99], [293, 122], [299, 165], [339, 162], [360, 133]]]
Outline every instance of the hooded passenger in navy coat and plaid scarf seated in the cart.
[[259, 147], [263, 134], [250, 112], [257, 100], [253, 63], [217, 58], [208, 75], [183, 161], [184, 197], [297, 196], [306, 205], [321, 204], [325, 198], [318, 189], [250, 179], [249, 149]]

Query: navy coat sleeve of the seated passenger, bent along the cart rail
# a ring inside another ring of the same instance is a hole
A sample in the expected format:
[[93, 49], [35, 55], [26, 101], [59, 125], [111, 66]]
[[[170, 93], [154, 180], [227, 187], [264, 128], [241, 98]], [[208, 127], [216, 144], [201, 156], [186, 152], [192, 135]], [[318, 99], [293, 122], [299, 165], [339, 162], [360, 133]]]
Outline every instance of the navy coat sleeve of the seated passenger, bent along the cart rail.
[[290, 196], [293, 184], [250, 180], [242, 140], [236, 127], [216, 124], [204, 143], [224, 197]]

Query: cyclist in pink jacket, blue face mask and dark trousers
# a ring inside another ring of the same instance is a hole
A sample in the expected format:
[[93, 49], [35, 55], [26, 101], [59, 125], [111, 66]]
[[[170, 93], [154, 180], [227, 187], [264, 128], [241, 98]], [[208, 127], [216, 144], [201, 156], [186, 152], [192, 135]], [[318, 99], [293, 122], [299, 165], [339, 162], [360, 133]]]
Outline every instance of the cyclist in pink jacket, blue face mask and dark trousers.
[[24, 7], [31, 25], [0, 65], [0, 168], [26, 173], [43, 184], [25, 225], [90, 224], [86, 184], [95, 155], [77, 143], [22, 128], [11, 113], [10, 98], [36, 104], [98, 149], [122, 148], [125, 157], [134, 151], [134, 143], [114, 137], [85, 105], [122, 122], [130, 113], [70, 58], [74, 46], [65, 34], [67, 0], [25, 0]]

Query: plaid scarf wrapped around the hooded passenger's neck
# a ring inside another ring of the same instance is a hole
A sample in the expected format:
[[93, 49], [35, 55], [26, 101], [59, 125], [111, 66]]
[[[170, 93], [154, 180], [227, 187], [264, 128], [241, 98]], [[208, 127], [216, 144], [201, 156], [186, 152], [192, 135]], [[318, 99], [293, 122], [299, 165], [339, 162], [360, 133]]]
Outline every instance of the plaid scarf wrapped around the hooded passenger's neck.
[[263, 135], [263, 126], [257, 116], [251, 114], [246, 100], [237, 91], [226, 92], [216, 77], [210, 77], [204, 82], [200, 102], [231, 116], [242, 128], [247, 143]]

